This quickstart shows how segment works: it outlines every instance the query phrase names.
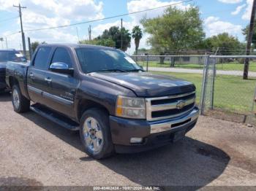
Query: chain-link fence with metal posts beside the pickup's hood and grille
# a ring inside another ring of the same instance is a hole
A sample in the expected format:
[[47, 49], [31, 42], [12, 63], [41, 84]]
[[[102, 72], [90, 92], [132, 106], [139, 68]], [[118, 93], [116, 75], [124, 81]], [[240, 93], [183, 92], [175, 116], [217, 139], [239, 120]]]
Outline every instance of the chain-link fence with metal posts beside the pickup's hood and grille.
[[[255, 119], [256, 56], [140, 55], [140, 66], [193, 82], [201, 114], [249, 122]], [[249, 79], [243, 79], [244, 59], [250, 59]], [[256, 123], [256, 122], [254, 122]]]

